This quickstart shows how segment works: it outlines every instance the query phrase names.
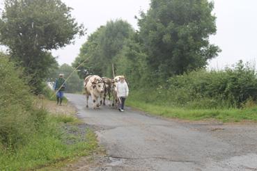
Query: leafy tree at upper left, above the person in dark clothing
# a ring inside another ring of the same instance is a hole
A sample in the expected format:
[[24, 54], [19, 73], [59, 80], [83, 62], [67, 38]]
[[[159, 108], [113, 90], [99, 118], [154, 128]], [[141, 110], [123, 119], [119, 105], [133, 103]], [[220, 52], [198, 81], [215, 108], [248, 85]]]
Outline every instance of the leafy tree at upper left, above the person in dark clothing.
[[83, 35], [61, 0], [6, 0], [0, 19], [0, 42], [10, 49], [11, 58], [25, 67], [30, 84], [40, 91], [40, 83], [56, 63], [51, 49], [72, 43]]

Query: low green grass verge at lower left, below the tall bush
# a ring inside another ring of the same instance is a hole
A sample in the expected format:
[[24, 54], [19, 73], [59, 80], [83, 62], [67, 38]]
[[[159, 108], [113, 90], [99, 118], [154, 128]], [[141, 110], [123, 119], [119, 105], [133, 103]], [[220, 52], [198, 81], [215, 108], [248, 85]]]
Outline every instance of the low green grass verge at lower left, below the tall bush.
[[98, 147], [95, 134], [86, 128], [79, 133], [78, 127], [75, 117], [47, 115], [27, 145], [15, 150], [0, 147], [0, 170], [36, 170], [90, 155]]

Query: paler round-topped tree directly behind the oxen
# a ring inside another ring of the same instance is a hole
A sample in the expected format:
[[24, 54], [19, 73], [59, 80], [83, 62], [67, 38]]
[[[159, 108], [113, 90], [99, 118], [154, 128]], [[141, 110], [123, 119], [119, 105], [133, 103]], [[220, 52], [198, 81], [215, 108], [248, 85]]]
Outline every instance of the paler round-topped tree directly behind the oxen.
[[111, 77], [112, 63], [116, 63], [114, 58], [118, 58], [116, 56], [133, 33], [132, 26], [121, 19], [107, 22], [106, 26], [101, 26], [88, 37], [72, 66], [77, 67], [86, 58], [89, 58], [80, 68], [84, 74], [86, 72], [86, 74]]

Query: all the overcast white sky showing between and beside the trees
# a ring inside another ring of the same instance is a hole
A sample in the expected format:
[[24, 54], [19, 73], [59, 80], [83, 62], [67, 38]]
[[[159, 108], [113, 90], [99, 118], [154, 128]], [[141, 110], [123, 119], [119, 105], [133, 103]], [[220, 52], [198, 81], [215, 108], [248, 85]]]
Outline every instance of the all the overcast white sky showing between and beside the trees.
[[[3, 0], [0, 0], [3, 1]], [[75, 44], [52, 51], [59, 56], [58, 62], [71, 64], [79, 54], [81, 44], [88, 35], [111, 19], [124, 19], [137, 29], [139, 10], [146, 11], [150, 0], [63, 0], [74, 8], [72, 16], [83, 23], [87, 35], [76, 39]], [[209, 67], [224, 68], [242, 59], [255, 63], [257, 59], [257, 1], [256, 0], [215, 0], [213, 13], [217, 17], [217, 34], [210, 37], [210, 42], [218, 45], [222, 52], [210, 61]]]

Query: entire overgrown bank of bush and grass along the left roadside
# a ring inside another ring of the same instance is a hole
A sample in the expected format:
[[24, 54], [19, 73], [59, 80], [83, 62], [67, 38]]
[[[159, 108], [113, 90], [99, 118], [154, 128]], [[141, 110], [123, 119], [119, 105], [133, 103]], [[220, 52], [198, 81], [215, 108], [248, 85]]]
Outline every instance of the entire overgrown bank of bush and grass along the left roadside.
[[74, 110], [59, 113], [61, 108], [51, 101], [59, 115], [50, 115], [46, 100], [31, 95], [22, 69], [3, 54], [0, 79], [0, 170], [35, 170], [89, 155], [98, 147], [94, 133], [79, 124]]

